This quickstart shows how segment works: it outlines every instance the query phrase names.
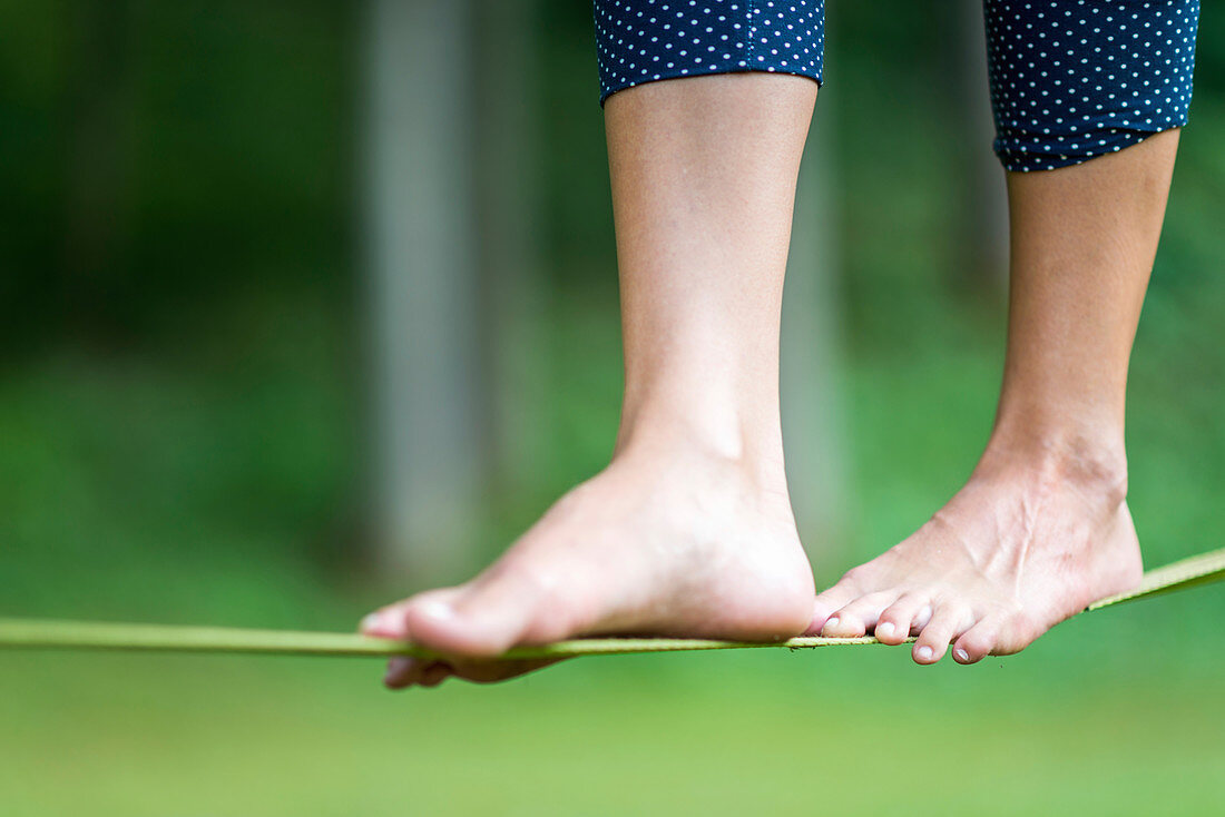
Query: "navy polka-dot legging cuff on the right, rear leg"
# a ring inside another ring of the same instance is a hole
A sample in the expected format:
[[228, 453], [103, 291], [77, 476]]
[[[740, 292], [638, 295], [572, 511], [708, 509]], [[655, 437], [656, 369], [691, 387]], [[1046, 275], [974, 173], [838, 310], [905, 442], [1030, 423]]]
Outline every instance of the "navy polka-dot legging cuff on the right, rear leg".
[[1198, 0], [984, 0], [995, 149], [1052, 170], [1187, 122]]

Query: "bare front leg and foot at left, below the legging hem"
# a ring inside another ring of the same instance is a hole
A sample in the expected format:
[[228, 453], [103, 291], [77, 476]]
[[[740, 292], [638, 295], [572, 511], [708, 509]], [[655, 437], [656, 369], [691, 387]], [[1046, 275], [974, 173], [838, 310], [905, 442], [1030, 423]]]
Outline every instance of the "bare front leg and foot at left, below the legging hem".
[[809, 623], [778, 333], [816, 93], [733, 73], [609, 99], [626, 378], [612, 461], [473, 582], [372, 615], [368, 633], [457, 657], [396, 661], [388, 683], [495, 680], [529, 668], [470, 659], [571, 636], [780, 639]]

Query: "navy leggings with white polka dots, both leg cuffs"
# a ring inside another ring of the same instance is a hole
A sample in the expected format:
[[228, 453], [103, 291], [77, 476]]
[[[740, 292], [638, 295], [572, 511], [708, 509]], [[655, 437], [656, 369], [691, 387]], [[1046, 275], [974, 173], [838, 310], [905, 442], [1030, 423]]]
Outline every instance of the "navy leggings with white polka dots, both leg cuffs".
[[[594, 0], [600, 103], [654, 80], [822, 81], [824, 0]], [[1199, 0], [984, 0], [995, 151], [1052, 170], [1187, 124]]]

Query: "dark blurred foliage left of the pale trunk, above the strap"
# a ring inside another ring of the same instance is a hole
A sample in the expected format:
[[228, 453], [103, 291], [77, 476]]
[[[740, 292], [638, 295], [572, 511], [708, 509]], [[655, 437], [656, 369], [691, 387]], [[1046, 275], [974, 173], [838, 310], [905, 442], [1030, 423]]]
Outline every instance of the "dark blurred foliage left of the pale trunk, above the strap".
[[5, 608], [288, 623], [353, 516], [354, 11], [0, 28]]

